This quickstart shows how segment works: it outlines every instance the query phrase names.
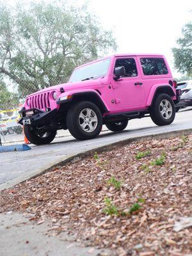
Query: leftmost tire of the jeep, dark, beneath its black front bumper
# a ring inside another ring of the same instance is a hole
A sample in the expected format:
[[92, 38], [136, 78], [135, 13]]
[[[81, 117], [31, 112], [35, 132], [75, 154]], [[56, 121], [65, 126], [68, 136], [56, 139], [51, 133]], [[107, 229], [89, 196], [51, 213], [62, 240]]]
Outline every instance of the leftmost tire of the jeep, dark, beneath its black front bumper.
[[35, 127], [24, 125], [24, 134], [31, 143], [35, 145], [44, 145], [49, 144], [52, 140], [54, 140], [56, 136], [56, 131], [47, 131], [45, 133], [46, 136], [44, 136], [44, 134], [38, 134], [38, 132], [36, 132]]

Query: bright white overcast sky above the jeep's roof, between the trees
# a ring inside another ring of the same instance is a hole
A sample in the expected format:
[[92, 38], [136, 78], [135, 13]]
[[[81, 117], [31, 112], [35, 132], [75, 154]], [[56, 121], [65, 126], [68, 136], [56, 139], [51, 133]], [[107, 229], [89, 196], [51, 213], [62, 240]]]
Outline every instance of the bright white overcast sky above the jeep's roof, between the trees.
[[[10, 4], [23, 3], [22, 0], [4, 1]], [[47, 0], [47, 2], [52, 1], [54, 0]], [[81, 6], [85, 0], [70, 1]], [[164, 54], [172, 68], [173, 76], [181, 76], [173, 67], [172, 47], [177, 46], [176, 40], [181, 35], [182, 26], [192, 21], [191, 0], [89, 0], [89, 2], [90, 12], [99, 17], [101, 26], [113, 30], [118, 45], [116, 52]]]

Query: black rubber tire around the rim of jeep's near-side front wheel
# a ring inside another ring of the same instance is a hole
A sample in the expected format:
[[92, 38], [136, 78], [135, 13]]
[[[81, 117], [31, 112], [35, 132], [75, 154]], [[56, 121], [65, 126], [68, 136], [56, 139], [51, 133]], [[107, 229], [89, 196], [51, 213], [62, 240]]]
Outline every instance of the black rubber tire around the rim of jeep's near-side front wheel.
[[[95, 121], [95, 123], [93, 122], [93, 131], [89, 130], [89, 126], [87, 126], [87, 128], [85, 126], [84, 129], [81, 127], [81, 125], [85, 124], [85, 122], [83, 122], [83, 124], [80, 122], [80, 114], [84, 109], [91, 109], [93, 111], [92, 113], [97, 116], [97, 121]], [[68, 110], [67, 128], [70, 134], [77, 140], [90, 140], [96, 138], [102, 129], [102, 114], [100, 113], [99, 108], [90, 101], [77, 102]], [[87, 131], [85, 131], [86, 129]]]

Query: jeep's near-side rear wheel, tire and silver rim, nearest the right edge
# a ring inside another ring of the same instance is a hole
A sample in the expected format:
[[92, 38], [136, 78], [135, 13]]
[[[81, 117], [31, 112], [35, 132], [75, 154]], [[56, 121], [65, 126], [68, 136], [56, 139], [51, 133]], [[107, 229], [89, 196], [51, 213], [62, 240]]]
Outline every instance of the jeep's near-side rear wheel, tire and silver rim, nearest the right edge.
[[150, 117], [156, 125], [172, 124], [175, 119], [175, 104], [172, 98], [165, 93], [157, 95], [150, 108]]

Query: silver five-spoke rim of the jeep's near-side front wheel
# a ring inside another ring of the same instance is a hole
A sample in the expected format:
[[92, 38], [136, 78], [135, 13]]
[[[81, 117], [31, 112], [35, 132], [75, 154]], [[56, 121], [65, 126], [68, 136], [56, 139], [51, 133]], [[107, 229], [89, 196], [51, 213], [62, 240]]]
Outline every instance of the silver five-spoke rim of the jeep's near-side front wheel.
[[79, 114], [79, 125], [81, 126], [81, 129], [85, 132], [93, 132], [95, 131], [98, 124], [98, 118], [93, 111], [93, 109], [90, 108], [84, 108], [80, 114]]

